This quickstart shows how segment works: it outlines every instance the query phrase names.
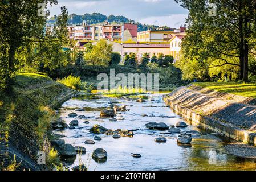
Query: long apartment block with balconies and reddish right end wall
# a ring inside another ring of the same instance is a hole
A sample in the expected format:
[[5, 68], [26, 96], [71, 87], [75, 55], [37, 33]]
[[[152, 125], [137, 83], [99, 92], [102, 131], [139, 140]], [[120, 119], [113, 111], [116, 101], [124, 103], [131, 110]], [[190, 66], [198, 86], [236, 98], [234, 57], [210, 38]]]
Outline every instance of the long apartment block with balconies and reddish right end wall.
[[68, 36], [74, 40], [105, 39], [109, 41], [137, 40], [137, 25], [133, 22], [124, 24], [110, 24], [89, 26], [86, 23], [80, 26], [68, 26]]

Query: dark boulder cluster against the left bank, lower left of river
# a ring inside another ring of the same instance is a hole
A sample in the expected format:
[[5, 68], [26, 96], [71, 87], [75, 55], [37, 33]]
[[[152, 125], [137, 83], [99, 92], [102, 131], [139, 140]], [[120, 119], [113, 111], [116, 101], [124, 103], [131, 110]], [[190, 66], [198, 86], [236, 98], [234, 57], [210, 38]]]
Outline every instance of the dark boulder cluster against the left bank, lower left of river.
[[75, 148], [71, 144], [65, 144], [64, 140], [52, 140], [51, 144], [58, 151], [59, 155], [76, 156]]

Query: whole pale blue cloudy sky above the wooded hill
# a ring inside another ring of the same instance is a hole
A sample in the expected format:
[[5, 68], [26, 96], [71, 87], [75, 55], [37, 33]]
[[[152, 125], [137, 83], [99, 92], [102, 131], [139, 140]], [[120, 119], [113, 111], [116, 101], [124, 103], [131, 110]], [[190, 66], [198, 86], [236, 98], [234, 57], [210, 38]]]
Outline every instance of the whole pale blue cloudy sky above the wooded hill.
[[174, 0], [59, 0], [58, 5], [49, 8], [51, 16], [60, 14], [62, 6], [69, 14], [123, 15], [136, 22], [172, 28], [184, 25], [188, 13]]

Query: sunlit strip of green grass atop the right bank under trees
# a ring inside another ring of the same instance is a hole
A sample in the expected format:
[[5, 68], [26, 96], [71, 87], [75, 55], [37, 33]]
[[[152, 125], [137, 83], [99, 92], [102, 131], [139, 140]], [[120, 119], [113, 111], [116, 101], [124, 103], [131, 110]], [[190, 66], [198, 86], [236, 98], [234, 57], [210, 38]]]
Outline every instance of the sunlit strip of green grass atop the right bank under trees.
[[218, 92], [256, 98], [256, 84], [242, 84], [238, 82], [198, 82], [193, 85]]

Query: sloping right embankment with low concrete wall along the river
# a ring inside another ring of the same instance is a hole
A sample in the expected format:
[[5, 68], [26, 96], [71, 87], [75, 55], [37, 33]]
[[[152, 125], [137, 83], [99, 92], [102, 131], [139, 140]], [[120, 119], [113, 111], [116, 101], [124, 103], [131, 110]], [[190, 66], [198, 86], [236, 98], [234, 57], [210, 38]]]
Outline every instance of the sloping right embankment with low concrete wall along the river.
[[164, 100], [191, 125], [201, 125], [238, 142], [256, 144], [256, 105], [252, 98], [192, 85], [174, 90]]

